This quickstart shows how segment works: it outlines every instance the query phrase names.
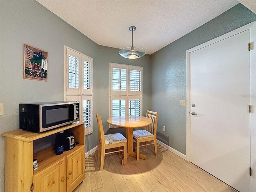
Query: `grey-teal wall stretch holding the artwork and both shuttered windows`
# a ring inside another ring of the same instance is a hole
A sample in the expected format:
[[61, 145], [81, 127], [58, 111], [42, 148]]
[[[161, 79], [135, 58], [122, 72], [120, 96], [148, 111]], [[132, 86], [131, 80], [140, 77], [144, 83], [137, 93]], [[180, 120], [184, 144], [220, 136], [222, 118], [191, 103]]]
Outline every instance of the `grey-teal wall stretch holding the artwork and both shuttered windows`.
[[[104, 31], [102, 31], [104, 32]], [[86, 136], [86, 152], [98, 145], [95, 113], [102, 116], [104, 131], [109, 114], [109, 62], [143, 67], [143, 114], [150, 108], [150, 55], [139, 60], [122, 58], [119, 49], [100, 46], [50, 12], [30, 1], [0, 1], [0, 133], [19, 126], [19, 103], [64, 100], [64, 45], [82, 52], [94, 60], [93, 67], [93, 133]], [[23, 79], [24, 44], [48, 51], [48, 82]], [[117, 128], [108, 132], [122, 132]], [[46, 148], [54, 137], [34, 143]], [[0, 192], [4, 191], [4, 138], [0, 137]]]

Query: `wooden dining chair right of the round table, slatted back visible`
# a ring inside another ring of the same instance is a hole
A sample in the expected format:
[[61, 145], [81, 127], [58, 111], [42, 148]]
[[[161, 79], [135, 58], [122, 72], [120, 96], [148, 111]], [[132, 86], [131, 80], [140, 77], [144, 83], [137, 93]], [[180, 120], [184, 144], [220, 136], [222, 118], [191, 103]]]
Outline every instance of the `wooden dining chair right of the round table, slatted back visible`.
[[[152, 120], [152, 124], [146, 126], [145, 130], [133, 131], [133, 139], [137, 142], [137, 160], [140, 160], [140, 147], [142, 146], [154, 144], [155, 155], [157, 156], [156, 130], [157, 130], [158, 112], [147, 110], [146, 117]], [[145, 142], [145, 144], [140, 145], [141, 142]], [[146, 142], [150, 142], [150, 143], [146, 144]]]

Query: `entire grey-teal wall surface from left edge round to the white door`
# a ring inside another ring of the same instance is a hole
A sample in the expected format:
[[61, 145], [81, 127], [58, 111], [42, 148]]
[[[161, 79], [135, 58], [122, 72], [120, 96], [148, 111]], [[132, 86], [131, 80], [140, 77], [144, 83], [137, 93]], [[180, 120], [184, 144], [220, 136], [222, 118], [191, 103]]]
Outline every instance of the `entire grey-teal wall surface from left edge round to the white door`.
[[[127, 60], [118, 49], [100, 46], [58, 18], [41, 4], [32, 1], [0, 1], [0, 133], [18, 128], [18, 104], [64, 99], [64, 45], [94, 59], [94, 113], [104, 121], [109, 113], [109, 62], [143, 67], [143, 115], [147, 109], [160, 112], [158, 139], [186, 153], [186, 50], [256, 20], [255, 14], [238, 4], [158, 52], [139, 60]], [[23, 79], [24, 43], [49, 52], [48, 82]], [[161, 98], [161, 99], [159, 99]], [[93, 134], [86, 136], [86, 151], [98, 141], [94, 118]], [[166, 126], [166, 133], [162, 132]], [[36, 146], [46, 146], [49, 140]], [[4, 138], [0, 138], [0, 191], [4, 191]]]

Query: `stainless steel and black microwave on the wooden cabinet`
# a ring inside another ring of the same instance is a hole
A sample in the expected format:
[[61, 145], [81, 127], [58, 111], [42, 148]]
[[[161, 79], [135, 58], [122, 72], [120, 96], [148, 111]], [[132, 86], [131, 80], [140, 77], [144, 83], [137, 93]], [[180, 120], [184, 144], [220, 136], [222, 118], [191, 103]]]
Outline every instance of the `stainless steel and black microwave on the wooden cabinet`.
[[79, 102], [20, 104], [20, 129], [44, 132], [79, 121]]

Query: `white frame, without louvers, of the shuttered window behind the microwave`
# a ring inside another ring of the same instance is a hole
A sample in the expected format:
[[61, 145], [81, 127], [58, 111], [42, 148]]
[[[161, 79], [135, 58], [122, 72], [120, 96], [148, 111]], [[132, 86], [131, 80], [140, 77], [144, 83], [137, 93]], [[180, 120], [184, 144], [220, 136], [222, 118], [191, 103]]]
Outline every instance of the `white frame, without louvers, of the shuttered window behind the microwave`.
[[[69, 55], [79, 58], [79, 86], [78, 88], [69, 88]], [[91, 78], [90, 89], [84, 89], [84, 61], [91, 64]], [[93, 59], [81, 52], [78, 52], [68, 46], [64, 46], [64, 100], [65, 101], [79, 101], [79, 120], [83, 120], [84, 98], [91, 100], [91, 126], [85, 127], [85, 135], [93, 132]], [[85, 124], [86, 126], [86, 124]]]

